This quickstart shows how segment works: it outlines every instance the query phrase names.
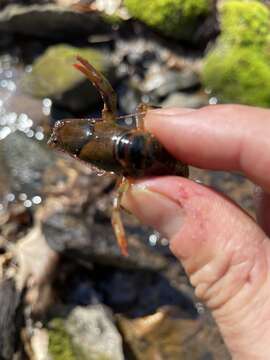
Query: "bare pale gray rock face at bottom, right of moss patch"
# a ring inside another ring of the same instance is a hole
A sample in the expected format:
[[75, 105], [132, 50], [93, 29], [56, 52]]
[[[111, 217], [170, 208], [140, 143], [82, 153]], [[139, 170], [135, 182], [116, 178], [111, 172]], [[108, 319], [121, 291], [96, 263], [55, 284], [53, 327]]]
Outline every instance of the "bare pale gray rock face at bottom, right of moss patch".
[[84, 359], [124, 359], [121, 335], [105, 306], [76, 307], [66, 320], [66, 329]]

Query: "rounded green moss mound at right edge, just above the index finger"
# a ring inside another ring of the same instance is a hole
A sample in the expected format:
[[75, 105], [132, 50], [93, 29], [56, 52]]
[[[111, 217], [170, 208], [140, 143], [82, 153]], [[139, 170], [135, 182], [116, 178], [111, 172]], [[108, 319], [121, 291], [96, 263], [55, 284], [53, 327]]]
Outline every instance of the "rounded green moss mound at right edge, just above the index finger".
[[257, 47], [217, 47], [209, 53], [203, 82], [221, 102], [270, 106], [270, 56]]

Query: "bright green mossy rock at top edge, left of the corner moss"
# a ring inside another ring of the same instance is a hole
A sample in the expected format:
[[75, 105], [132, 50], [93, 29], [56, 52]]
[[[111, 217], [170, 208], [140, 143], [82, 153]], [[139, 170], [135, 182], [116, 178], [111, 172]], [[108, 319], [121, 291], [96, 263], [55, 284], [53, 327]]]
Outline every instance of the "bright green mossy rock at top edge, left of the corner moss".
[[212, 0], [124, 0], [129, 13], [166, 36], [191, 40], [200, 19], [213, 9]]

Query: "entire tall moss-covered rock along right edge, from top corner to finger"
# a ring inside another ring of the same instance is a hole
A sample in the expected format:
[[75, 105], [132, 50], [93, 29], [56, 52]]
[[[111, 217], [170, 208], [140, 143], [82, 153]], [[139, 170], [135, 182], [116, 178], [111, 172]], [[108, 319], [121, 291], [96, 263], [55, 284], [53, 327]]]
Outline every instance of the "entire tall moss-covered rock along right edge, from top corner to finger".
[[219, 102], [269, 107], [269, 7], [255, 0], [227, 0], [219, 8], [221, 35], [204, 60], [204, 86]]

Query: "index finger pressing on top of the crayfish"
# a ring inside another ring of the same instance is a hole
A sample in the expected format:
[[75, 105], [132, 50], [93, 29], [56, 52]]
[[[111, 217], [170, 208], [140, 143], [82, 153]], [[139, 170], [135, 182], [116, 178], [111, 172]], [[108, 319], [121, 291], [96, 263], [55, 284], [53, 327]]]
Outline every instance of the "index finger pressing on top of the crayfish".
[[241, 171], [270, 191], [270, 110], [207, 106], [177, 114], [149, 111], [145, 126], [177, 159], [212, 170]]

